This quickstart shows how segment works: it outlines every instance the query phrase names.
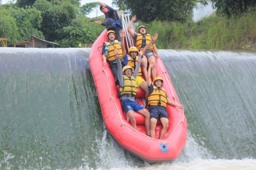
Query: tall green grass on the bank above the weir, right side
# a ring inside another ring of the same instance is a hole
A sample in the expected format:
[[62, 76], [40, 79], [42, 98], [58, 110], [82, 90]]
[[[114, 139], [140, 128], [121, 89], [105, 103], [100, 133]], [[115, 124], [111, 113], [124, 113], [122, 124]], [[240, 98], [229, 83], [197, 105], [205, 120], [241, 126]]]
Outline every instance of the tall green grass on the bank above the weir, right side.
[[211, 15], [198, 22], [139, 23], [150, 35], [158, 33], [159, 49], [256, 49], [256, 13], [237, 17]]

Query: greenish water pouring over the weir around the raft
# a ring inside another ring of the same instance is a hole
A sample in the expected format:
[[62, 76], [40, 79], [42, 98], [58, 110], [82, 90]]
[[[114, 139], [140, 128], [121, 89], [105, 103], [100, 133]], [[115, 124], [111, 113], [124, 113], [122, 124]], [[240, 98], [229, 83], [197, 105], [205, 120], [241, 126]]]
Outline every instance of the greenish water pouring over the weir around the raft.
[[159, 53], [187, 143], [149, 164], [107, 133], [90, 48], [0, 48], [0, 169], [255, 169], [256, 52]]

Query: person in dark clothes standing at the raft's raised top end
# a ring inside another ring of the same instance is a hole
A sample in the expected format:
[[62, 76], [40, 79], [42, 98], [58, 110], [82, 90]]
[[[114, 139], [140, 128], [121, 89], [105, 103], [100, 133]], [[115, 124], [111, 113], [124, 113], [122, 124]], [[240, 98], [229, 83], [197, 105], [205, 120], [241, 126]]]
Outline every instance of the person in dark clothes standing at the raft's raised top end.
[[118, 16], [117, 11], [115, 11], [110, 6], [107, 6], [105, 3], [98, 2], [99, 3], [99, 9], [102, 11], [102, 13], [105, 14], [105, 20], [104, 22], [95, 21], [98, 25], [105, 26], [107, 31], [113, 30], [115, 31], [115, 38], [118, 40], [118, 42], [121, 42], [121, 37], [119, 35], [119, 31], [122, 30], [122, 22], [120, 19], [120, 16]]

